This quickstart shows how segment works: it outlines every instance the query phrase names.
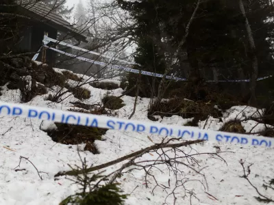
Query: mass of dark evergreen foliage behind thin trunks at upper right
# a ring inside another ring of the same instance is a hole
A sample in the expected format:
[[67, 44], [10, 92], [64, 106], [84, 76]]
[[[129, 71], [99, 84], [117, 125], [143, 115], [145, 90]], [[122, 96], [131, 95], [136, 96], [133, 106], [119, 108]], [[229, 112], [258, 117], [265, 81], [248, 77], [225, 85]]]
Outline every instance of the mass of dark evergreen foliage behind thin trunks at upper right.
[[[142, 70], [164, 73], [171, 64], [171, 55], [175, 55], [178, 61], [169, 74], [190, 81], [249, 79], [251, 76], [251, 51], [238, 0], [202, 1], [190, 25], [186, 44], [179, 50], [177, 47], [197, 1], [116, 2], [136, 20], [137, 27], [133, 31], [138, 42], [135, 61]], [[244, 4], [256, 44], [259, 76], [273, 73], [273, 6], [268, 0], [244, 1]], [[129, 74], [128, 81], [128, 88], [136, 85], [136, 74]], [[155, 96], [159, 81], [142, 76], [140, 96]], [[238, 94], [248, 97], [248, 90], [244, 89], [248, 83], [239, 85], [242, 89], [238, 89]], [[229, 87], [229, 83], [225, 87]]]

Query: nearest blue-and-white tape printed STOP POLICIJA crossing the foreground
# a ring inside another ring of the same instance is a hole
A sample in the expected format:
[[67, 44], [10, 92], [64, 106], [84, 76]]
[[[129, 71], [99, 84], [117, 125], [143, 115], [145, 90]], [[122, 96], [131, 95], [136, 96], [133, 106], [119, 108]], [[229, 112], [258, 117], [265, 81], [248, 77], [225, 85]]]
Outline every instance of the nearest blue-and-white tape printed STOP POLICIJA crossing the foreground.
[[274, 147], [274, 138], [271, 137], [256, 137], [254, 135], [241, 135], [220, 131], [206, 131], [189, 126], [172, 126], [155, 122], [124, 120], [103, 115], [62, 111], [1, 101], [0, 115], [8, 115], [13, 117], [18, 116], [37, 120], [48, 120], [51, 122], [60, 122], [64, 124], [107, 128], [117, 131], [172, 136], [182, 139], [203, 139], [215, 142], [238, 143], [242, 146], [264, 146], [267, 148]]

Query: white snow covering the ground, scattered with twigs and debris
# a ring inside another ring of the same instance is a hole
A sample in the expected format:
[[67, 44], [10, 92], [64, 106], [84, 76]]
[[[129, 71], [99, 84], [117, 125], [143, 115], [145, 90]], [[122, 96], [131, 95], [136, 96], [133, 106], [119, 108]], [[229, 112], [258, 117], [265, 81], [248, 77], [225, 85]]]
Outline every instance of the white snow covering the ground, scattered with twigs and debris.
[[[57, 70], [57, 69], [56, 69]], [[86, 77], [84, 77], [85, 79]], [[70, 81], [71, 84], [71, 81]], [[101, 98], [107, 92], [115, 96], [122, 93], [122, 89], [113, 91], [106, 91], [85, 85], [90, 90], [91, 97], [83, 100], [86, 104], [94, 104], [101, 102]], [[58, 87], [53, 87], [49, 94], [53, 94]], [[20, 103], [20, 91], [8, 90], [3, 87], [2, 96], [0, 100], [5, 102]], [[70, 96], [62, 103], [53, 103], [46, 101], [44, 96], [36, 96], [27, 105], [34, 105], [39, 107], [50, 107], [53, 109], [67, 110], [73, 105], [69, 102], [78, 101], [77, 98]], [[69, 95], [69, 94], [68, 94]], [[64, 96], [65, 98], [66, 96]], [[123, 96], [125, 107], [119, 109], [116, 117], [128, 118], [132, 113], [134, 98]], [[147, 107], [149, 99], [138, 98], [136, 113], [132, 120], [149, 121], [147, 119]], [[244, 110], [242, 112], [242, 110]], [[245, 119], [245, 116], [260, 115], [262, 111], [257, 111], [252, 107], [232, 107], [227, 110], [223, 119], [210, 118], [204, 122], [199, 122], [200, 128], [219, 130], [224, 122], [231, 119]], [[244, 113], [244, 114], [242, 114]], [[40, 120], [30, 120], [25, 118], [0, 117], [0, 204], [8, 205], [31, 205], [31, 204], [59, 204], [65, 197], [72, 195], [79, 191], [71, 180], [66, 179], [65, 176], [59, 177], [55, 180], [54, 175], [60, 171], [69, 170], [70, 165], [80, 165], [79, 156], [77, 153], [77, 146], [67, 146], [52, 141], [51, 137], [47, 135], [40, 128], [45, 129], [45, 126], [50, 127], [51, 124], [41, 122]], [[184, 125], [190, 119], [183, 119], [177, 115], [171, 118], [160, 118], [159, 122], [164, 124]], [[42, 123], [42, 124], [41, 124]], [[251, 131], [254, 124], [257, 122], [249, 120], [242, 122], [242, 126], [247, 132]], [[51, 126], [52, 127], [52, 126]], [[262, 129], [262, 125], [258, 124], [251, 132], [258, 132]], [[80, 152], [81, 156], [86, 158], [90, 165], [99, 165], [112, 161], [116, 158], [129, 154], [133, 151], [146, 148], [153, 145], [153, 142], [159, 142], [162, 137], [157, 135], [147, 135], [141, 133], [130, 133], [121, 131], [107, 131], [103, 136], [105, 141], [95, 141], [100, 154], [92, 154], [91, 152]], [[153, 142], [152, 142], [153, 141]], [[202, 154], [197, 155], [197, 163], [192, 163], [193, 168], [201, 170], [201, 174], [206, 176], [203, 178], [192, 169], [182, 166], [180, 180], [189, 179], [186, 183], [186, 189], [192, 190], [197, 199], [192, 196], [192, 204], [200, 205], [214, 205], [214, 204], [260, 204], [254, 196], [258, 196], [255, 189], [242, 176], [242, 167], [240, 166], [240, 159], [246, 162], [246, 165], [253, 163], [251, 167], [251, 174], [249, 176], [251, 182], [258, 187], [263, 193], [271, 197], [271, 190], [264, 190], [262, 188], [263, 180], [269, 181], [271, 177], [274, 178], [274, 150], [273, 148], [258, 148], [249, 146], [240, 146], [229, 143], [213, 143], [206, 142], [202, 144], [185, 147], [184, 152], [188, 154], [195, 153], [211, 153], [221, 151], [221, 156], [225, 161], [221, 161], [214, 155]], [[173, 154], [173, 153], [170, 153]], [[20, 156], [25, 156], [32, 161], [40, 172], [42, 180], [40, 180], [36, 169], [25, 159], [22, 159], [20, 167], [17, 167], [20, 161]], [[155, 159], [155, 154], [145, 154], [138, 161]], [[123, 162], [125, 163], [125, 162]], [[121, 167], [123, 163], [119, 163], [112, 167], [108, 167], [105, 174], [113, 172], [115, 169]], [[199, 164], [199, 165], [198, 165]], [[21, 169], [17, 172], [14, 170]], [[121, 183], [121, 188], [125, 193], [131, 193], [125, 204], [163, 204], [166, 196], [172, 191], [172, 184], [175, 182], [175, 176], [169, 173], [164, 165], [160, 166], [160, 170], [154, 169], [152, 174], [158, 179], [160, 184], [169, 187], [169, 180], [171, 181], [171, 189], [160, 189], [157, 187], [151, 193], [155, 184], [152, 178], [149, 178], [149, 188], [146, 189], [144, 180], [145, 173], [143, 171], [133, 171], [131, 174], [124, 174], [118, 179]], [[191, 181], [192, 180], [192, 181]], [[205, 184], [201, 184], [200, 180]], [[190, 197], [184, 196], [184, 189], [180, 187], [176, 190], [177, 204], [190, 204]], [[273, 194], [273, 192], [272, 192]], [[169, 204], [173, 204], [173, 195], [166, 199]]]

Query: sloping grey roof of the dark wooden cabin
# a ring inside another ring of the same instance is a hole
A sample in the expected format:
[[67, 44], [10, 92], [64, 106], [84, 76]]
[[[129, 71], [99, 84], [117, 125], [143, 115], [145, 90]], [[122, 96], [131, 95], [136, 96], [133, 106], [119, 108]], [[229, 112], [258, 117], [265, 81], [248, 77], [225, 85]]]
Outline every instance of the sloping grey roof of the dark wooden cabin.
[[34, 0], [15, 0], [15, 3], [25, 10], [29, 16], [32, 16], [47, 25], [67, 33], [69, 36], [87, 42], [84, 31], [73, 27], [69, 22], [64, 20], [62, 16], [54, 12], [45, 3]]

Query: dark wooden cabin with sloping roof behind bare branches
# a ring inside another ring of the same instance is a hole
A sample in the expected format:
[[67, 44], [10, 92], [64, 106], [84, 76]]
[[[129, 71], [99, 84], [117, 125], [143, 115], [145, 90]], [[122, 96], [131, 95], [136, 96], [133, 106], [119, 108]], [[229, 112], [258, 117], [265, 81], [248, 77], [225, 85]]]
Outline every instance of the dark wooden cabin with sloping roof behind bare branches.
[[[49, 38], [57, 39], [58, 32], [65, 33], [66, 39], [75, 38], [78, 42], [87, 42], [83, 31], [73, 27], [45, 3], [33, 0], [15, 0], [14, 3], [17, 5], [16, 13], [29, 17], [27, 20], [21, 19], [26, 26], [22, 30], [22, 38], [16, 45], [16, 49], [37, 52], [42, 46], [42, 39], [45, 34]], [[56, 55], [55, 51], [48, 49], [46, 63], [53, 66]], [[41, 60], [41, 56], [38, 56], [38, 61]]]

